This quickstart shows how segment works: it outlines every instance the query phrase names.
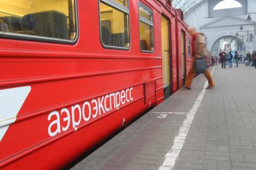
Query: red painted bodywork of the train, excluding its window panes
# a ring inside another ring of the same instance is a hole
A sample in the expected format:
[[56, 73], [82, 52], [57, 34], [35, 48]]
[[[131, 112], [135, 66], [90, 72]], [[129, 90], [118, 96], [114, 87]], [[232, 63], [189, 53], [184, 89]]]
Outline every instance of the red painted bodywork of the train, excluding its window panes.
[[[123, 50], [100, 41], [100, 2], [75, 2], [73, 44], [0, 38], [0, 168], [61, 168], [183, 86], [192, 57], [180, 11], [165, 0], [130, 0]], [[140, 3], [153, 13], [151, 53], [140, 47]], [[169, 22], [166, 87], [161, 17]]]

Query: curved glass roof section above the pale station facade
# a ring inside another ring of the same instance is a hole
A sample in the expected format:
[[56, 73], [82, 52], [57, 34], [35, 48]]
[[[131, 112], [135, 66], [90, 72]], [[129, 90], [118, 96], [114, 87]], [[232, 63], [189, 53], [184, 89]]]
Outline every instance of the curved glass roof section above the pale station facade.
[[181, 9], [184, 14], [187, 13], [191, 8], [195, 7], [195, 5], [199, 4], [204, 0], [173, 0], [172, 7]]

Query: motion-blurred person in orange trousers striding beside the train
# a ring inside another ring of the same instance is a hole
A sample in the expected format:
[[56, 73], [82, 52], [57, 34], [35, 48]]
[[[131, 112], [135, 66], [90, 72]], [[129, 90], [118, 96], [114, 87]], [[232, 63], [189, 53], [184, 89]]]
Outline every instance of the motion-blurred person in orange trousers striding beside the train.
[[[198, 33], [194, 27], [187, 28], [187, 32], [189, 32], [189, 35], [192, 37], [192, 59], [193, 63], [198, 57], [206, 56], [207, 53], [206, 49], [206, 39], [204, 36], [200, 33]], [[191, 89], [191, 84], [193, 81], [195, 73], [194, 65], [189, 70], [189, 74], [187, 74], [186, 82], [185, 82], [185, 89]], [[215, 86], [215, 83], [213, 83], [212, 75], [208, 69], [206, 69], [206, 72], [204, 72], [204, 75], [206, 75], [206, 78], [208, 80], [209, 86], [206, 87], [206, 89], [212, 89], [212, 87]]]

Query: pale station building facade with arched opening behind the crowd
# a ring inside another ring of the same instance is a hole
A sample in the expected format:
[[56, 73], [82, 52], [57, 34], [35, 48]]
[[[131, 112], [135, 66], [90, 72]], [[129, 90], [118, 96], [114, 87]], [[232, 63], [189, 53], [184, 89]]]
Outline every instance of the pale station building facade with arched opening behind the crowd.
[[[234, 0], [225, 0], [234, 1]], [[213, 56], [219, 50], [237, 50], [239, 56], [256, 49], [256, 1], [236, 0], [238, 8], [213, 10], [221, 0], [205, 0], [184, 14], [190, 26], [195, 26], [206, 36], [207, 48]]]

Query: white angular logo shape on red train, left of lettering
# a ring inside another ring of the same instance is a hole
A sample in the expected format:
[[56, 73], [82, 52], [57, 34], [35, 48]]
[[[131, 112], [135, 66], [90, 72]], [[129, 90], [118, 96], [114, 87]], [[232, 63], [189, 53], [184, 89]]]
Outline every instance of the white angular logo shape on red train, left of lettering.
[[30, 86], [0, 90], [0, 142], [11, 123], [16, 121], [30, 91]]

